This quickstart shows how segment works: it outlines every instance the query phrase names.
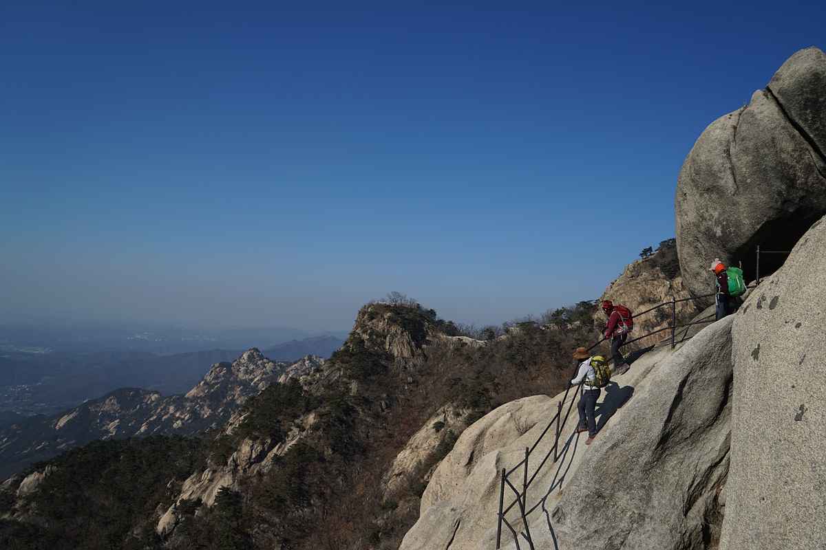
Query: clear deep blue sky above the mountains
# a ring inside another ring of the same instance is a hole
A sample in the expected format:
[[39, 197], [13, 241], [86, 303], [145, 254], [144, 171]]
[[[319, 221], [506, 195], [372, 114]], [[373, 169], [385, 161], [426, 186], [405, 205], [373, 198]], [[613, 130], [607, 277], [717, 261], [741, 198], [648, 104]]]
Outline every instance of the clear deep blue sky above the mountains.
[[0, 320], [483, 326], [674, 237], [826, 2], [0, 2]]

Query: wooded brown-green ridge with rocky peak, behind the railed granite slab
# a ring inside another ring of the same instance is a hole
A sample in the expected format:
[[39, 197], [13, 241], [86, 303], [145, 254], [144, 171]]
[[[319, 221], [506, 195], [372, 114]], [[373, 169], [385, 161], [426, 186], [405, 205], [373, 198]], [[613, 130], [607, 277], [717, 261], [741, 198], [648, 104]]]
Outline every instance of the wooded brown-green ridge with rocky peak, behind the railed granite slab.
[[[162, 485], [157, 481], [163, 488], [155, 494], [164, 498], [150, 516], [118, 519], [132, 521], [121, 528], [130, 533], [123, 536], [154, 548], [188, 548], [216, 529], [236, 546], [252, 548], [361, 548], [378, 538], [397, 545], [418, 516], [435, 465], [467, 425], [514, 397], [563, 387], [561, 365], [568, 360], [561, 350], [576, 346], [567, 322], [520, 322], [514, 331], [479, 341], [450, 336], [455, 327], [418, 304], [369, 303], [323, 367], [301, 383], [270, 383], [211, 435], [206, 448], [164, 463], [164, 471], [178, 472]], [[591, 325], [588, 337], [596, 340]], [[128, 445], [129, 453], [180, 446], [152, 438]], [[75, 449], [76, 456], [98, 449]], [[61, 455], [4, 485], [0, 514], [9, 532], [40, 521], [31, 502], [44, 501], [40, 487], [62, 487], [63, 472], [77, 468], [72, 459]], [[45, 476], [47, 468], [57, 476]], [[102, 464], [89, 474], [100, 481], [92, 479], [83, 491], [104, 491], [97, 483], [119, 479], [119, 468], [118, 462]], [[31, 491], [26, 499], [21, 487]], [[230, 528], [221, 510], [232, 503], [244, 519]]]

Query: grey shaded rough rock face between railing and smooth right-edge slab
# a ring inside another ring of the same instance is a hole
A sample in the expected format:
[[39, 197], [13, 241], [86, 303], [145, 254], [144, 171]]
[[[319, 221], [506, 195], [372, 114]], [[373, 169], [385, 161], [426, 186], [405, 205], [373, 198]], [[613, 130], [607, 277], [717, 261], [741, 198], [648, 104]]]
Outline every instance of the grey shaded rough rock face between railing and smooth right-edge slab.
[[729, 470], [732, 321], [657, 365], [583, 458], [551, 513], [560, 549], [703, 548]]

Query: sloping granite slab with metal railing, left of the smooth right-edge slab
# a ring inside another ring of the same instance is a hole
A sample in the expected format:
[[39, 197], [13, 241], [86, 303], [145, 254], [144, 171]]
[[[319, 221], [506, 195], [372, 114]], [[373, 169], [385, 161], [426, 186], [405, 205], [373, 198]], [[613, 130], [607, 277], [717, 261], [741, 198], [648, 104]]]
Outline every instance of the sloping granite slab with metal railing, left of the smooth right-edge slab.
[[[594, 444], [586, 447], [584, 436], [573, 433], [572, 411], [561, 458], [549, 458], [529, 487], [534, 548], [702, 548], [729, 467], [732, 322], [714, 323], [676, 352], [658, 347], [635, 361], [601, 396]], [[525, 458], [558, 401], [526, 397], [465, 430], [434, 473], [419, 523], [401, 550], [496, 548], [496, 472]], [[525, 435], [515, 429], [520, 418], [533, 425]], [[539, 466], [552, 446], [553, 431], [529, 463]], [[521, 468], [509, 479], [521, 488]], [[506, 505], [510, 492], [507, 499]], [[525, 531], [515, 509], [507, 518]], [[502, 548], [516, 548], [503, 530]]]

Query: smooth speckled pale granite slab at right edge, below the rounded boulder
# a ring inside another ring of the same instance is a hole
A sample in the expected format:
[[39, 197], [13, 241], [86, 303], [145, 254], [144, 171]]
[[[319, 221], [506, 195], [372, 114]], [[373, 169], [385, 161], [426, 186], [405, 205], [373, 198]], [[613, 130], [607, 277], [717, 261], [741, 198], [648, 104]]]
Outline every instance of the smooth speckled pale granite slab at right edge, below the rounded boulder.
[[826, 219], [733, 327], [732, 458], [721, 550], [824, 548]]

